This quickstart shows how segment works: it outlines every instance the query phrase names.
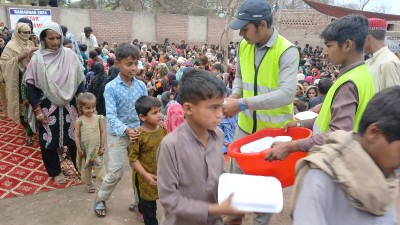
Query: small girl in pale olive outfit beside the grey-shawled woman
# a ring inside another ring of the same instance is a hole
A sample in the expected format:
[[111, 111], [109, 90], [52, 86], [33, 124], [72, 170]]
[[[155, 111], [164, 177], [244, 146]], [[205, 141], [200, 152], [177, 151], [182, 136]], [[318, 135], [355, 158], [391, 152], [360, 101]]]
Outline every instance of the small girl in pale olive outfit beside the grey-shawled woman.
[[100, 182], [105, 176], [106, 125], [104, 117], [96, 114], [96, 97], [92, 93], [78, 95], [78, 111], [80, 117], [75, 121], [76, 166], [87, 192], [94, 193], [96, 186], [92, 182], [92, 170]]

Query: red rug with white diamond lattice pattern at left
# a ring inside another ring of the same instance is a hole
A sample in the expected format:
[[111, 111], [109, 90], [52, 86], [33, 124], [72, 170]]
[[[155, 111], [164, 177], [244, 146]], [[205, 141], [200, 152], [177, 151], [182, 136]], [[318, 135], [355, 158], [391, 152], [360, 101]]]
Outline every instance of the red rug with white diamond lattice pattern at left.
[[80, 183], [71, 161], [63, 161], [62, 170], [72, 171], [72, 176], [64, 184], [56, 184], [46, 173], [37, 138], [34, 146], [26, 146], [25, 141], [22, 126], [7, 117], [0, 119], [0, 199], [31, 195]]

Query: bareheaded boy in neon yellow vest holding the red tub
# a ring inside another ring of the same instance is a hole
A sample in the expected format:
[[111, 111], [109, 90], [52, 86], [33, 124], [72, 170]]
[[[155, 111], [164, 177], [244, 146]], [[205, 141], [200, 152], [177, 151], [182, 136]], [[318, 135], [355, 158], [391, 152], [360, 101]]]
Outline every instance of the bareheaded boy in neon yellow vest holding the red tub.
[[286, 127], [313, 129], [313, 136], [290, 142], [276, 142], [266, 160], [283, 160], [289, 153], [309, 151], [322, 145], [324, 136], [336, 130], [357, 132], [361, 115], [374, 95], [374, 81], [364, 64], [364, 44], [368, 19], [360, 15], [345, 16], [333, 21], [321, 33], [329, 59], [341, 65], [340, 74], [329, 89], [317, 118], [290, 122]]

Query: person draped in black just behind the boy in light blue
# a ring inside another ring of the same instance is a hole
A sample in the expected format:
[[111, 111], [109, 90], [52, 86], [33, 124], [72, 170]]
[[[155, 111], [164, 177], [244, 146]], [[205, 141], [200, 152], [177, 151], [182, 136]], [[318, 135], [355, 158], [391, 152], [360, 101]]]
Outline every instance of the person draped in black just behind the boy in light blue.
[[104, 100], [104, 89], [103, 83], [107, 80], [106, 71], [104, 71], [104, 67], [102, 63], [95, 62], [92, 66], [92, 71], [94, 73], [91, 84], [89, 86], [88, 92], [94, 94], [97, 98], [96, 102], [96, 110], [97, 114], [106, 115], [106, 104]]

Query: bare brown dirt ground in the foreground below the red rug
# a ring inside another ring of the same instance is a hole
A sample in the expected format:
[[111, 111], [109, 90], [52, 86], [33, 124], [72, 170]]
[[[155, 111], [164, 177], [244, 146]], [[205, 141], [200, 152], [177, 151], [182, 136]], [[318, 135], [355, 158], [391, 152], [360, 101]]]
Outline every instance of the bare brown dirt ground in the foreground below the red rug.
[[[125, 174], [112, 197], [107, 201], [107, 216], [97, 218], [93, 213], [94, 195], [85, 192], [83, 185], [62, 190], [39, 193], [19, 198], [0, 200], [0, 225], [141, 225], [136, 214], [128, 211], [132, 200], [130, 168], [125, 166]], [[284, 190], [284, 206], [288, 206], [291, 188]], [[396, 201], [397, 215], [400, 215], [400, 197]], [[158, 204], [159, 222], [162, 207]], [[399, 217], [400, 220], [400, 217]], [[244, 225], [251, 225], [251, 215], [247, 215]], [[288, 210], [274, 215], [270, 225], [289, 225]]]

